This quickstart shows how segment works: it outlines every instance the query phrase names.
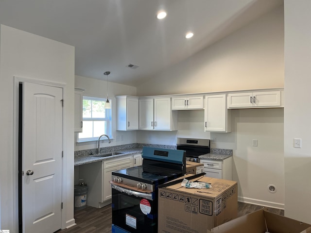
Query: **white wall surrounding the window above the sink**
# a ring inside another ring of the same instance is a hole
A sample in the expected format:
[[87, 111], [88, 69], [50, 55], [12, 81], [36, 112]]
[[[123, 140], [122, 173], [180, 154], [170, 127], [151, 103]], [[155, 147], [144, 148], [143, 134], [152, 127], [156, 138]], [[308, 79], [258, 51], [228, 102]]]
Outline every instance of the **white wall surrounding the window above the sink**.
[[[111, 72], [109, 77], [113, 79], [113, 72]], [[85, 91], [83, 92], [84, 96], [98, 98], [107, 97], [107, 82], [104, 77], [102, 81], [76, 75], [74, 85], [75, 87], [85, 89]], [[112, 106], [116, 104], [115, 96], [118, 95], [136, 96], [136, 87], [108, 82], [108, 98], [111, 99]], [[112, 119], [116, 118], [116, 108], [112, 108]], [[102, 142], [101, 147], [136, 143], [136, 131], [116, 131], [116, 121], [113, 121], [112, 129], [112, 135], [114, 139], [111, 140], [111, 144]], [[76, 143], [76, 134], [77, 133], [75, 133], [74, 136], [74, 150], [87, 150], [97, 148], [97, 142]], [[120, 138], [120, 141], [117, 141], [117, 136], [120, 136], [118, 137], [118, 139]]]

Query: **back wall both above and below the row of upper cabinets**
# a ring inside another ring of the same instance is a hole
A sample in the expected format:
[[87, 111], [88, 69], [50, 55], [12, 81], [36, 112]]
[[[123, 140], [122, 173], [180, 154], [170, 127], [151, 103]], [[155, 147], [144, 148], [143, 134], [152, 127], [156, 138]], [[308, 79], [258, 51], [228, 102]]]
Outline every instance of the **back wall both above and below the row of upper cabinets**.
[[[280, 7], [138, 86], [138, 96], [261, 89], [284, 85]], [[287, 91], [287, 90], [286, 90]], [[287, 93], [287, 92], [286, 92]], [[137, 133], [138, 143], [176, 145], [177, 137], [216, 138], [232, 149], [239, 200], [284, 208], [283, 109], [233, 110], [231, 133], [204, 132], [203, 111], [179, 111], [177, 132]], [[258, 147], [252, 147], [258, 139]], [[267, 163], [271, 161], [271, 164]], [[275, 194], [268, 192], [275, 184]]]

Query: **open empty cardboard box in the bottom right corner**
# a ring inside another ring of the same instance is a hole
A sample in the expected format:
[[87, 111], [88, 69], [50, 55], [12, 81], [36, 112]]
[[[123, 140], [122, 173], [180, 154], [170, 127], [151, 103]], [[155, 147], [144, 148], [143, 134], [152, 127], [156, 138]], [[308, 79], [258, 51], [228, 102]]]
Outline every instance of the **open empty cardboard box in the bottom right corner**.
[[[212, 233], [311, 233], [311, 225], [268, 212], [267, 208], [233, 219]], [[207, 230], [207, 233], [210, 231]]]

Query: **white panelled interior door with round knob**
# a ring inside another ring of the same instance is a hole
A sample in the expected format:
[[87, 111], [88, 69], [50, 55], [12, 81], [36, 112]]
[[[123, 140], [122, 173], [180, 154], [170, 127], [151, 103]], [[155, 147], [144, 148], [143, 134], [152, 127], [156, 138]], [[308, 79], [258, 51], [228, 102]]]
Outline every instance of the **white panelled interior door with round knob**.
[[62, 88], [23, 85], [23, 233], [61, 228], [62, 99]]

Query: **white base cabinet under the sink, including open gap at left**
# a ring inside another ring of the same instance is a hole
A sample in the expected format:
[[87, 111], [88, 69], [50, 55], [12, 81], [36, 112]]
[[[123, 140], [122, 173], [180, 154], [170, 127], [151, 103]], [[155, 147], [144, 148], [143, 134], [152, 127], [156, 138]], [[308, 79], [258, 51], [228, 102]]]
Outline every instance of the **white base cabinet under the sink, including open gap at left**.
[[101, 208], [110, 203], [111, 172], [133, 166], [133, 156], [104, 160], [79, 166], [79, 179], [88, 187], [87, 202], [89, 206]]

